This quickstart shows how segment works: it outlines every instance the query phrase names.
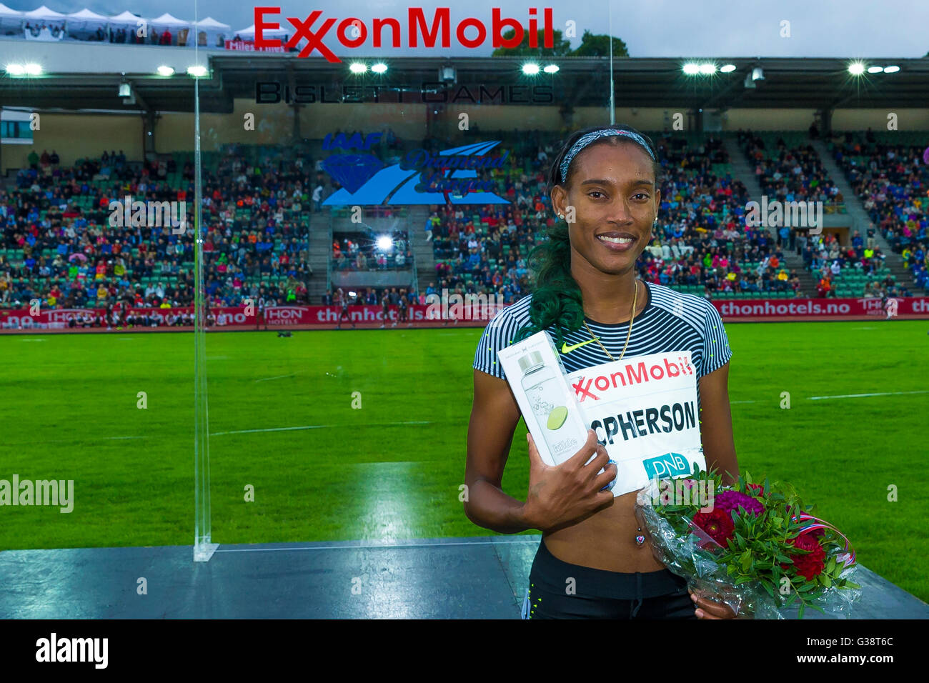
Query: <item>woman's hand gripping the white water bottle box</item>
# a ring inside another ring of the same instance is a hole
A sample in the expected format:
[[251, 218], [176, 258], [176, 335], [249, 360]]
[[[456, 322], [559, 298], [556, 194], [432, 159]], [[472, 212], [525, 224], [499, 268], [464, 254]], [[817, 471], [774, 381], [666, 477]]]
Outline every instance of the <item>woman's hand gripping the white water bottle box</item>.
[[[601, 489], [616, 479], [616, 465], [609, 462], [607, 449], [596, 442], [593, 429], [587, 430], [581, 450], [558, 466], [546, 465], [532, 435], [526, 437], [530, 469], [523, 517], [530, 529], [545, 532], [613, 504], [613, 493]], [[594, 453], [596, 457], [587, 463]]]

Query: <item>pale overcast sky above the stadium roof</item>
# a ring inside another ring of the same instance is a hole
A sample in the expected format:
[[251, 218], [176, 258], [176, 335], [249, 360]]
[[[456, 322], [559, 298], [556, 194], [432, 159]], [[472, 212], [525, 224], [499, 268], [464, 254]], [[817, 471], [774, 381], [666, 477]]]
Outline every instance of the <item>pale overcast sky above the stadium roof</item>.
[[[74, 12], [88, 7], [100, 14], [118, 14], [126, 9], [143, 17], [155, 17], [170, 12], [178, 19], [193, 20], [192, 0], [4, 0], [7, 7], [31, 10], [43, 2], [59, 12]], [[228, 23], [233, 30], [242, 29], [254, 22], [255, 4], [281, 7], [283, 17], [302, 20], [314, 9], [322, 16], [313, 25], [318, 29], [322, 20], [357, 17], [371, 27], [374, 17], [406, 17], [409, 5], [383, 0], [281, 0], [274, 3], [260, 0], [255, 3], [231, 3], [229, 0], [198, 0], [197, 14], [213, 17]], [[847, 58], [920, 58], [929, 51], [929, 0], [552, 0], [548, 3], [529, 0], [469, 0], [464, 7], [445, 0], [442, 3], [422, 2], [427, 19], [435, 7], [451, 7], [451, 20], [472, 16], [490, 26], [491, 7], [501, 7], [504, 17], [520, 20], [528, 25], [529, 7], [537, 7], [542, 19], [542, 8], [553, 7], [555, 28], [564, 30], [565, 22], [577, 24], [577, 38], [572, 46], [580, 44], [585, 29], [593, 33], [608, 32], [608, 7], [612, 11], [612, 33], [622, 38], [632, 57], [847, 57]], [[781, 21], [790, 21], [790, 37], [781, 37]], [[471, 30], [473, 31], [473, 30]], [[471, 35], [473, 33], [469, 33]], [[327, 33], [324, 42], [340, 57], [365, 54], [373, 56], [369, 35], [365, 50], [347, 50]], [[406, 36], [403, 34], [405, 41]], [[483, 48], [454, 47], [451, 55], [489, 56], [490, 38]], [[379, 49], [376, 54], [429, 55], [438, 53], [420, 47]], [[445, 54], [445, 53], [442, 53]], [[316, 56], [317, 53], [314, 53]]]

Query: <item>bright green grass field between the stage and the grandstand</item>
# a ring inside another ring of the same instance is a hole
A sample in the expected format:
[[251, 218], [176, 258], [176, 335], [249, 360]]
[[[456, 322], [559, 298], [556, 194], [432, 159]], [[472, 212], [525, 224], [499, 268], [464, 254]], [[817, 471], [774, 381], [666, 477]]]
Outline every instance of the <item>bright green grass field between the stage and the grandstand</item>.
[[[924, 391], [927, 325], [726, 329], [742, 471], [792, 481], [852, 539], [860, 562], [929, 600], [929, 393], [809, 398]], [[491, 534], [458, 500], [479, 335], [207, 335], [213, 540]], [[73, 479], [75, 498], [71, 514], [0, 507], [0, 550], [192, 545], [191, 334], [2, 335], [0, 354], [0, 479]], [[504, 477], [520, 499], [524, 434], [520, 423]], [[244, 501], [249, 484], [254, 503]], [[887, 500], [891, 485], [897, 502]]]

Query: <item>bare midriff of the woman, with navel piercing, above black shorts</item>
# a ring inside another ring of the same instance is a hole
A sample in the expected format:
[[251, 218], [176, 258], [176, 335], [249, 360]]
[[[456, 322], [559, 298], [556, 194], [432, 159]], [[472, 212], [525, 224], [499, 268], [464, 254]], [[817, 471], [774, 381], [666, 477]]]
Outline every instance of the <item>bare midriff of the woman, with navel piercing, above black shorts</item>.
[[[545, 546], [556, 558], [570, 564], [606, 571], [661, 571], [664, 565], [652, 556], [648, 534], [638, 531], [635, 491], [625, 493], [577, 524], [543, 534]], [[643, 545], [635, 536], [646, 536]]]

